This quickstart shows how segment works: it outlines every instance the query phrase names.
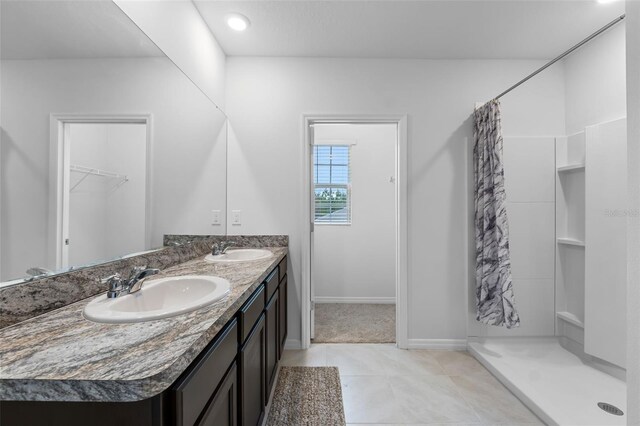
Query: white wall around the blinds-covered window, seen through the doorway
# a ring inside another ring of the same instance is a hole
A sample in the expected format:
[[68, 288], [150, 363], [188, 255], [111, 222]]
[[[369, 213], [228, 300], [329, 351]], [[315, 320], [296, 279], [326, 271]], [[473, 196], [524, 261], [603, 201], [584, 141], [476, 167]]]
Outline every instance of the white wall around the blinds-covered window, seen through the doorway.
[[314, 140], [348, 139], [351, 146], [351, 225], [316, 224], [317, 302], [394, 301], [395, 124], [320, 124]]

